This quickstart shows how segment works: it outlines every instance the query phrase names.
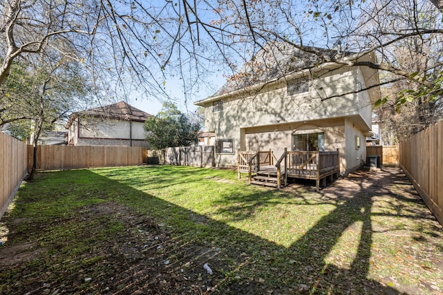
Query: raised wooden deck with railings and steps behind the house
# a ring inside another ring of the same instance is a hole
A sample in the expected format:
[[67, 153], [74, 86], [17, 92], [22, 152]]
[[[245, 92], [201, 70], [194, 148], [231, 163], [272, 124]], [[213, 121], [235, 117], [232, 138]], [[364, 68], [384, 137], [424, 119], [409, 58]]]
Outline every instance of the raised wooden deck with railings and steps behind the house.
[[319, 190], [320, 182], [326, 187], [327, 178], [332, 182], [340, 173], [338, 151], [285, 150], [278, 160], [272, 151], [238, 151], [238, 159], [239, 178], [242, 172], [247, 172], [249, 183], [278, 189], [287, 185], [287, 178], [302, 178], [316, 180], [316, 189]]

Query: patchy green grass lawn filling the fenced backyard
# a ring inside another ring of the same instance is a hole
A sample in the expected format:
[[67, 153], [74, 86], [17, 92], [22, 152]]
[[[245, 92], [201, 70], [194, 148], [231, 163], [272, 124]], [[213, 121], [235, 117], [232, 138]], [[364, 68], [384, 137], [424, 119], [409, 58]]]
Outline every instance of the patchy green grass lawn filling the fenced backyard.
[[40, 172], [0, 227], [0, 294], [443, 292], [442, 226], [398, 169], [320, 193], [185, 166]]

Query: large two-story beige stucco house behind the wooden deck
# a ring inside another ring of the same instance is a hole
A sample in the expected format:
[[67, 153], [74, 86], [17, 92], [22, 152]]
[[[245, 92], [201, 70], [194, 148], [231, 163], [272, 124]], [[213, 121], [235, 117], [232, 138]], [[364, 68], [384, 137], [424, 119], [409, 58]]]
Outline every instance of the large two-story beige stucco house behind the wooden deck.
[[[337, 55], [336, 50], [318, 50]], [[359, 61], [374, 61], [373, 53]], [[278, 43], [260, 50], [205, 107], [205, 131], [215, 133], [217, 166], [235, 166], [237, 150], [339, 151], [340, 172], [362, 166], [379, 99], [377, 70], [316, 64], [317, 55]]]

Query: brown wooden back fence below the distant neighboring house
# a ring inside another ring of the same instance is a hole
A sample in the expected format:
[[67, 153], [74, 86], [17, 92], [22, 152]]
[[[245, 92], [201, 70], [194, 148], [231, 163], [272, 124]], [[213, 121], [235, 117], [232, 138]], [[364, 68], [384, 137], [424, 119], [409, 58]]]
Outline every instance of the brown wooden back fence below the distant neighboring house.
[[[142, 146], [38, 146], [37, 169], [141, 165], [147, 160]], [[33, 166], [33, 146], [28, 145], [28, 169]]]

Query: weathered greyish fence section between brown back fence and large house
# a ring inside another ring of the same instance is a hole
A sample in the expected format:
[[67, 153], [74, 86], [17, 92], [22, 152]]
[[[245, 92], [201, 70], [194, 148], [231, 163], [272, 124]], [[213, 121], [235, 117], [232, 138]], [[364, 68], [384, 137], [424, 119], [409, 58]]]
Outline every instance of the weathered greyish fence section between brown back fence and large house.
[[214, 146], [179, 146], [148, 151], [148, 164], [215, 167]]

